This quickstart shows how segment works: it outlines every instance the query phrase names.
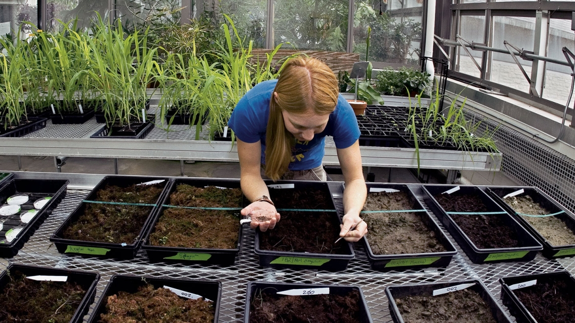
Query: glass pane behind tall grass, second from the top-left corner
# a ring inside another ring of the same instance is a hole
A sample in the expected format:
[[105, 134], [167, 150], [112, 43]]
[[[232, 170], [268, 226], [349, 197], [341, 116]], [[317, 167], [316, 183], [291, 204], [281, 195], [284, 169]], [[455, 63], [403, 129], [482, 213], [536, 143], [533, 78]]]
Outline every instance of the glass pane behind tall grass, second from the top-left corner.
[[87, 28], [95, 20], [96, 12], [101, 17], [108, 12], [108, 0], [48, 0], [46, 2], [48, 31], [59, 30], [57, 20], [68, 22], [78, 18], [78, 27]]

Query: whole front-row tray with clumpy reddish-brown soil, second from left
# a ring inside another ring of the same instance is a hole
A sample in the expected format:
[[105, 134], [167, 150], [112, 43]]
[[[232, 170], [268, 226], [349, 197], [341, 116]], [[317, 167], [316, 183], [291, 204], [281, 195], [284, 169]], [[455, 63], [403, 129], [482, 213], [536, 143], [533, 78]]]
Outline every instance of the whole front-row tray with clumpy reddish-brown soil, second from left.
[[88, 323], [217, 323], [220, 298], [220, 282], [113, 275]]

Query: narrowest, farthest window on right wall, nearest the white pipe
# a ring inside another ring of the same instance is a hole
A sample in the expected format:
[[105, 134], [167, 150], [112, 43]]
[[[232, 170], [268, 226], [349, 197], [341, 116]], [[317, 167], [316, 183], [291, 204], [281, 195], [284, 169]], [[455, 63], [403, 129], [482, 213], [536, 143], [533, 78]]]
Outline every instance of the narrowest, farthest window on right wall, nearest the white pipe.
[[[485, 35], [485, 16], [461, 16], [459, 24], [459, 36], [461, 36], [466, 41], [469, 41], [470, 43], [471, 42], [483, 43], [485, 37], [484, 35]], [[465, 41], [463, 41], [463, 44], [465, 44]], [[457, 61], [454, 67], [455, 71], [480, 78], [481, 71], [477, 68], [475, 63], [473, 63], [471, 57], [467, 55], [465, 49], [463, 49], [461, 46], [458, 46], [456, 48], [457, 48]], [[475, 61], [477, 61], [477, 63], [481, 67], [482, 66], [481, 60], [483, 59], [484, 52], [474, 51], [471, 48], [467, 49], [469, 49], [469, 52], [471, 53], [471, 56], [473, 56], [473, 59], [475, 59]]]

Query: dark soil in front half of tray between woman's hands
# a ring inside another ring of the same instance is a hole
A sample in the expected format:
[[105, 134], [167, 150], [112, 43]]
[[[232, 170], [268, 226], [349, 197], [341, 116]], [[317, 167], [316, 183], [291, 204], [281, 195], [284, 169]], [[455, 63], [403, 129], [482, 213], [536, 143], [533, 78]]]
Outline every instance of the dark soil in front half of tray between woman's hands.
[[271, 251], [343, 253], [339, 221], [327, 212], [282, 212], [273, 230], [262, 232], [260, 248]]

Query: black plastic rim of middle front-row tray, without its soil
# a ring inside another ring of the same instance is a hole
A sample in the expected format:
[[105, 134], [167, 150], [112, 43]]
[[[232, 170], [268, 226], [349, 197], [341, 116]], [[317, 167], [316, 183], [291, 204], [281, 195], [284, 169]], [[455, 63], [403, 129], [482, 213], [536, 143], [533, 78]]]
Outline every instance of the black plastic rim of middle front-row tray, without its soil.
[[[365, 301], [365, 296], [361, 287], [355, 285], [322, 285], [322, 284], [286, 284], [286, 283], [268, 283], [268, 282], [250, 282], [248, 283], [248, 289], [246, 294], [246, 306], [244, 307], [244, 323], [250, 322], [250, 304], [254, 298], [255, 293], [258, 290], [263, 289], [273, 289], [275, 291], [285, 291], [290, 289], [310, 289], [310, 288], [325, 288], [329, 287], [330, 294], [336, 295], [346, 295], [352, 290], [359, 291], [359, 298], [361, 304], [359, 304], [360, 315], [356, 317], [356, 322], [358, 323], [373, 323], [371, 320], [371, 315], [369, 314], [369, 309], [367, 307], [367, 302]], [[289, 297], [289, 296], [286, 296]], [[278, 322], [276, 320], [276, 322]]]

